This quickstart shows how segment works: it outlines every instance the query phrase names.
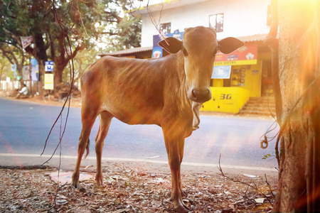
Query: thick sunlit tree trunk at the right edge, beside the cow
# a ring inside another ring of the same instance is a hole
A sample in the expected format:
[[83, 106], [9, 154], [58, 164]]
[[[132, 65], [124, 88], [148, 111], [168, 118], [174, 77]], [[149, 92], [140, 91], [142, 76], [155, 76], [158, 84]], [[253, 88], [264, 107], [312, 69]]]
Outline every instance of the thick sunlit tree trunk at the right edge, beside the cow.
[[319, 4], [278, 4], [282, 136], [273, 212], [320, 211]]

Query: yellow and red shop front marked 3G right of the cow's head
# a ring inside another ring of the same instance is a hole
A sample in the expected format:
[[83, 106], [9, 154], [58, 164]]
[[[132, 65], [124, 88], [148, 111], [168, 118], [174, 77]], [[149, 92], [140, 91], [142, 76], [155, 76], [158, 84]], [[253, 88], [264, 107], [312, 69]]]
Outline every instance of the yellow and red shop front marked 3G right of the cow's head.
[[238, 114], [250, 97], [270, 92], [270, 58], [262, 42], [245, 43], [230, 54], [217, 53], [210, 83], [212, 99], [201, 111]]

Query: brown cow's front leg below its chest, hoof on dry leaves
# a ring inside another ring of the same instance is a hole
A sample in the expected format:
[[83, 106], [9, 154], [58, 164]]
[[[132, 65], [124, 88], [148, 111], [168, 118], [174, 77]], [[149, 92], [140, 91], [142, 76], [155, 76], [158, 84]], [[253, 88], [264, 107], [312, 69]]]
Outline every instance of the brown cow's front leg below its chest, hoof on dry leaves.
[[171, 138], [171, 134], [164, 131], [164, 141], [166, 143], [166, 151], [171, 170], [171, 200], [174, 202], [176, 212], [189, 212], [188, 207], [182, 201], [180, 166], [183, 158], [183, 137]]

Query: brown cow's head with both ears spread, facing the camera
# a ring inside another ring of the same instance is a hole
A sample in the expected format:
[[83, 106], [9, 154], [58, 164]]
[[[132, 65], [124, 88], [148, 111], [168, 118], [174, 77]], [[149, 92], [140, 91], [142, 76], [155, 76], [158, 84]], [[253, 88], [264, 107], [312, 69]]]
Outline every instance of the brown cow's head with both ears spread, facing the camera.
[[159, 45], [168, 53], [181, 51], [188, 84], [188, 99], [203, 103], [211, 98], [210, 80], [215, 54], [218, 50], [226, 54], [231, 53], [243, 43], [232, 37], [218, 41], [213, 28], [198, 26], [186, 28], [183, 41], [170, 37], [161, 40]]

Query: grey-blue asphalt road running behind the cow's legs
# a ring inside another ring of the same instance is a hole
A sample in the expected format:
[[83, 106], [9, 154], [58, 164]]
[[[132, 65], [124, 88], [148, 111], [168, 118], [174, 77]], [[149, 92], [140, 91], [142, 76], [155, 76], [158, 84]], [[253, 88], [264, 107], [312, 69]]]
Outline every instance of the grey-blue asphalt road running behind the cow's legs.
[[[46, 151], [38, 158], [61, 107], [33, 104], [0, 98], [0, 165], [32, 165], [44, 163], [52, 155], [60, 138], [58, 121], [48, 140]], [[186, 138], [183, 163], [195, 167], [215, 168], [221, 154], [221, 165], [225, 168], [272, 171], [277, 160], [263, 155], [274, 154], [275, 140], [267, 149], [260, 148], [260, 137], [272, 125], [271, 120], [245, 119], [240, 117], [201, 116], [200, 129]], [[90, 136], [90, 154], [95, 159], [95, 135], [98, 119]], [[80, 108], [70, 108], [68, 123], [54, 158], [61, 154], [63, 163], [72, 168], [78, 151], [81, 131]], [[268, 136], [277, 133], [272, 131]], [[130, 126], [112, 120], [103, 148], [104, 160], [127, 162], [166, 163], [166, 148], [161, 128], [156, 125]]]

